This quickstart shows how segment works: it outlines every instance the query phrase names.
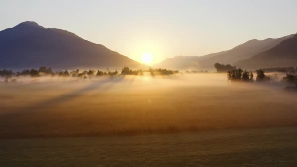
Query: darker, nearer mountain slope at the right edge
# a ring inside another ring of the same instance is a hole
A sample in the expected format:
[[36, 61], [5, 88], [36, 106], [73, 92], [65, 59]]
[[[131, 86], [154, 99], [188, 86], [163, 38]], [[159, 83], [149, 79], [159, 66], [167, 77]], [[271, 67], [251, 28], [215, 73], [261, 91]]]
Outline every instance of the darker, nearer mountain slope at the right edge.
[[297, 66], [297, 34], [271, 49], [235, 63], [244, 69]]

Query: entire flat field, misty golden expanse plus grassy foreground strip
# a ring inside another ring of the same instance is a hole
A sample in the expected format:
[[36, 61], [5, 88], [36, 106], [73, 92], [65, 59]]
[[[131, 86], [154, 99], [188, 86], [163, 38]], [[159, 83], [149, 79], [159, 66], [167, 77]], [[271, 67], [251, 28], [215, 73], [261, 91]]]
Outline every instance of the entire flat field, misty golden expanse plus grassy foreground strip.
[[295, 166], [297, 95], [285, 86], [226, 74], [19, 78], [0, 84], [0, 166]]

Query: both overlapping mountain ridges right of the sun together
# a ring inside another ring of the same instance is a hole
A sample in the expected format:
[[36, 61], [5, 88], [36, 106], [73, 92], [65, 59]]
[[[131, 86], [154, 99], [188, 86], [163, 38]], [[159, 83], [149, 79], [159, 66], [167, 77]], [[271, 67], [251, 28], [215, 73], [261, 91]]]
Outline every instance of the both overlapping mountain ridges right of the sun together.
[[[214, 63], [237, 65], [238, 67], [255, 69], [264, 67], [279, 67], [279, 66], [296, 66], [296, 63], [289, 62], [294, 57], [297, 57], [296, 52], [290, 51], [290, 56], [281, 57], [281, 52], [285, 53], [285, 49], [297, 48], [295, 44], [288, 44], [285, 41], [291, 41], [295, 35], [291, 34], [277, 39], [268, 38], [265, 40], [250, 40], [235, 48], [218, 53], [208, 54], [205, 56], [177, 56], [173, 58], [167, 58], [159, 64], [155, 64], [156, 67], [166, 67], [180, 70], [199, 70], [199, 69], [214, 69]], [[296, 36], [295, 36], [296, 37]], [[294, 37], [294, 38], [295, 38]], [[283, 41], [283, 42], [282, 42]], [[290, 47], [283, 46], [282, 49], [274, 49], [279, 45], [290, 45]], [[293, 47], [294, 46], [294, 47]], [[271, 51], [269, 51], [271, 50]], [[278, 54], [276, 54], [276, 51]], [[262, 53], [263, 52], [263, 53]], [[275, 53], [274, 53], [275, 52]], [[264, 56], [265, 54], [265, 56]], [[261, 56], [262, 55], [262, 56]], [[269, 56], [274, 56], [270, 61]], [[254, 63], [254, 56], [261, 57], [261, 62]], [[266, 61], [267, 59], [267, 61]], [[283, 63], [279, 63], [277, 59], [282, 59]], [[265, 63], [264, 63], [265, 62]], [[266, 63], [269, 62], [269, 63]]]

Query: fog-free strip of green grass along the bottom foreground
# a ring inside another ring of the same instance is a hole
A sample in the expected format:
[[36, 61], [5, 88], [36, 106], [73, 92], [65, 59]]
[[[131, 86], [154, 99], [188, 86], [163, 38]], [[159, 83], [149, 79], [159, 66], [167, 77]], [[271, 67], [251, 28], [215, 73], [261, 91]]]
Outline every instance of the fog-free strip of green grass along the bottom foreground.
[[296, 166], [297, 127], [0, 140], [0, 166]]

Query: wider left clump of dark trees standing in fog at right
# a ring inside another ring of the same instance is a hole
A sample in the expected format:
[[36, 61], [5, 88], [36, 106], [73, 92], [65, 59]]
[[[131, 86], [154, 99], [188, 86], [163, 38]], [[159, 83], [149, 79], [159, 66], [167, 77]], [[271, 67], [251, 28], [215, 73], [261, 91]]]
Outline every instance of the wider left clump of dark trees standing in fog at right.
[[228, 80], [231, 81], [254, 81], [254, 74], [252, 71], [233, 69], [227, 72]]

